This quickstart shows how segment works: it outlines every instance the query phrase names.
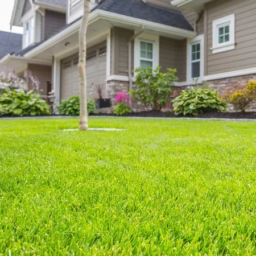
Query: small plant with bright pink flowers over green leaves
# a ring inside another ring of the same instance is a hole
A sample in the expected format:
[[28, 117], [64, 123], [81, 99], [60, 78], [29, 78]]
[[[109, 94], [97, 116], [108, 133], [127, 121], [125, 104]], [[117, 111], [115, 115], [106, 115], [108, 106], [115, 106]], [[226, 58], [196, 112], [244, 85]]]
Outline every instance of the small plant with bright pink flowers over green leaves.
[[132, 113], [131, 102], [128, 100], [128, 94], [125, 92], [119, 92], [115, 97], [114, 114], [125, 115]]

